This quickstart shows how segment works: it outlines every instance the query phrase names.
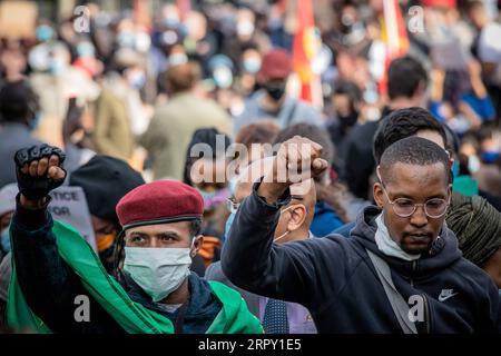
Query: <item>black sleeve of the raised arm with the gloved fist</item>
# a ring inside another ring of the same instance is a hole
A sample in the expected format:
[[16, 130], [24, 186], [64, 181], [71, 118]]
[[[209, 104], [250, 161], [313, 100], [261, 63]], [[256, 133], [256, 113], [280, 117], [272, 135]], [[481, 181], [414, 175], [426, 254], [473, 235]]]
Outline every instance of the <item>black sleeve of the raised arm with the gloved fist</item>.
[[[12, 254], [22, 294], [31, 310], [53, 333], [122, 333], [118, 324], [92, 299], [80, 279], [60, 257], [46, 207], [19, 205], [11, 222]], [[90, 322], [77, 322], [77, 296], [90, 300]]]

